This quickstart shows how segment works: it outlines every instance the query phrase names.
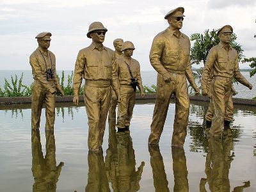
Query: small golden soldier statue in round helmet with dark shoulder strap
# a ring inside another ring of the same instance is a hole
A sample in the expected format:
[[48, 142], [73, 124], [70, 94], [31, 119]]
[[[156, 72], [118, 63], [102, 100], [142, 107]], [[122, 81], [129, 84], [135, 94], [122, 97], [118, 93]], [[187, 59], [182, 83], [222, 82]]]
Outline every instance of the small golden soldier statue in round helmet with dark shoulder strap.
[[116, 58], [113, 79], [119, 81], [122, 102], [118, 103], [117, 123], [118, 131], [128, 131], [132, 111], [135, 104], [136, 87], [138, 86], [141, 97], [145, 96], [140, 74], [140, 63], [131, 58], [135, 47], [132, 42], [124, 42], [122, 51], [124, 56]]

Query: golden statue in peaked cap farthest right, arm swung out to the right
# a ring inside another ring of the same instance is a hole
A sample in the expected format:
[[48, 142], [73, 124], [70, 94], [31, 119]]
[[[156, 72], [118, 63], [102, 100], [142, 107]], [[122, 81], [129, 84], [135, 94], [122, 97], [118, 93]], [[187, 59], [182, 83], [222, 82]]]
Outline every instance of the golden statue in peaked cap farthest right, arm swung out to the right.
[[[212, 136], [221, 136], [223, 131], [225, 109], [230, 98], [232, 77], [234, 76], [239, 83], [247, 86], [250, 90], [252, 89], [252, 84], [239, 71], [236, 49], [229, 45], [232, 33], [233, 28], [229, 25], [218, 30], [217, 35], [220, 38], [220, 44], [212, 47], [209, 51], [202, 74], [202, 95], [211, 97], [214, 105], [214, 116], [209, 131]], [[207, 79], [211, 76], [212, 70], [213, 79], [210, 93], [207, 89]]]

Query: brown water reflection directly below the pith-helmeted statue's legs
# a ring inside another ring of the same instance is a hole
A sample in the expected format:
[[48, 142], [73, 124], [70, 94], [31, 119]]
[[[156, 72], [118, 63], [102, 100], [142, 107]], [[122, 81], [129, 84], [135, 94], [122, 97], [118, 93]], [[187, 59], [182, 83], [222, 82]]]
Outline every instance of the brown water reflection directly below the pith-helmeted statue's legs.
[[89, 150], [88, 167], [88, 183], [85, 188], [85, 191], [110, 191], [108, 179], [105, 172], [103, 151], [101, 147], [99, 147], [99, 152], [93, 152]]

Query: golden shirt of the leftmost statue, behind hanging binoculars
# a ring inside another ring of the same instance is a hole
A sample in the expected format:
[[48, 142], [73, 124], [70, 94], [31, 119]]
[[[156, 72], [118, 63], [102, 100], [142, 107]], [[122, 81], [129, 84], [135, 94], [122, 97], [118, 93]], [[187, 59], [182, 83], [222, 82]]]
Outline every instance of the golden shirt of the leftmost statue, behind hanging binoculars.
[[[48, 81], [54, 81], [56, 88], [60, 88], [60, 82], [56, 75], [56, 59], [51, 51], [48, 50], [47, 54], [45, 54], [40, 47], [38, 47], [29, 57], [29, 63], [32, 67], [33, 79], [39, 81], [47, 91], [51, 93], [56, 91]], [[47, 68], [51, 68], [52, 74], [54, 75], [54, 78], [48, 79], [48, 81], [46, 77]]]

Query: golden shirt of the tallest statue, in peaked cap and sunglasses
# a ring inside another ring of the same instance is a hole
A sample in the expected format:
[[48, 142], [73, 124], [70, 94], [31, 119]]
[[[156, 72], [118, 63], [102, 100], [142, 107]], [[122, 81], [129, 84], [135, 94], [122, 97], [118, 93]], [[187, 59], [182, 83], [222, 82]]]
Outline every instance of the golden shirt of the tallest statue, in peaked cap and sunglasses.
[[161, 75], [166, 72], [186, 74], [189, 83], [196, 88], [189, 52], [188, 36], [167, 28], [157, 34], [153, 40], [149, 55], [150, 63]]

